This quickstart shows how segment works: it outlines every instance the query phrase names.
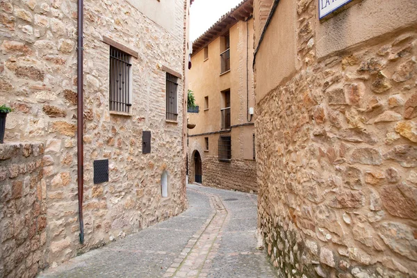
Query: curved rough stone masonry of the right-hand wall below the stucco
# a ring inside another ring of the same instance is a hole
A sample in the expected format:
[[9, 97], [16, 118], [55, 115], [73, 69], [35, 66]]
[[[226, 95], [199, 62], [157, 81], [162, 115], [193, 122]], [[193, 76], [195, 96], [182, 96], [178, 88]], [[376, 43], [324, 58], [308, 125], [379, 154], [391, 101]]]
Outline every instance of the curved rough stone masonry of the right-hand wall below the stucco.
[[417, 33], [318, 61], [298, 1], [301, 69], [256, 108], [259, 229], [285, 277], [417, 277]]

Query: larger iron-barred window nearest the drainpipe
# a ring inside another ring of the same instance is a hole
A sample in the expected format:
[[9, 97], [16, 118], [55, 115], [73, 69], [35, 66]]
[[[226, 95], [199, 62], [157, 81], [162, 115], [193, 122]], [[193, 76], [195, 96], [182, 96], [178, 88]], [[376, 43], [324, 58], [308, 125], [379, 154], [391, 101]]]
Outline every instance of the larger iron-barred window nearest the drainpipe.
[[110, 47], [109, 108], [110, 111], [131, 113], [131, 56]]

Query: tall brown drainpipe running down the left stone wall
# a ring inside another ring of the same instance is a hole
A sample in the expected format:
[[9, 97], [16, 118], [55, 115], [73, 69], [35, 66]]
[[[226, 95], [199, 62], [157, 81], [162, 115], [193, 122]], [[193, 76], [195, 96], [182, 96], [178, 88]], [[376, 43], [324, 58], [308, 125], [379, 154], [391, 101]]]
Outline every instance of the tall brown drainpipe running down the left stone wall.
[[77, 45], [77, 128], [76, 128], [76, 148], [77, 148], [77, 179], [79, 196], [79, 220], [80, 220], [80, 243], [84, 243], [84, 223], [83, 223], [83, 191], [84, 191], [84, 145], [83, 145], [83, 0], [78, 1], [78, 45]]

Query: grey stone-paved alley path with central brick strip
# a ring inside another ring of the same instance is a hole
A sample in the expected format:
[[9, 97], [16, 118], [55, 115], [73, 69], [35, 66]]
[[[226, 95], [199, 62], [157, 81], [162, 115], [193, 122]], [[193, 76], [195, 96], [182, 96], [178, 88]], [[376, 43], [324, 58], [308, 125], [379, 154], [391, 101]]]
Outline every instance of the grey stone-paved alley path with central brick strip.
[[189, 185], [181, 215], [39, 277], [278, 277], [256, 249], [256, 195]]

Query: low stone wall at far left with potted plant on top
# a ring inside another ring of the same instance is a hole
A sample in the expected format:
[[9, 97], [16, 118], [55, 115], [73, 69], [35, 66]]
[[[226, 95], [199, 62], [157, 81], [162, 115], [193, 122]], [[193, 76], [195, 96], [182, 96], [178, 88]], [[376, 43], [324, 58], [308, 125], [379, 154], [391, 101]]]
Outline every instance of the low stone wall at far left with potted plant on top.
[[35, 277], [47, 250], [41, 143], [0, 145], [0, 277]]

